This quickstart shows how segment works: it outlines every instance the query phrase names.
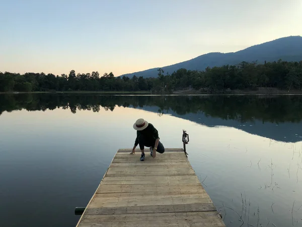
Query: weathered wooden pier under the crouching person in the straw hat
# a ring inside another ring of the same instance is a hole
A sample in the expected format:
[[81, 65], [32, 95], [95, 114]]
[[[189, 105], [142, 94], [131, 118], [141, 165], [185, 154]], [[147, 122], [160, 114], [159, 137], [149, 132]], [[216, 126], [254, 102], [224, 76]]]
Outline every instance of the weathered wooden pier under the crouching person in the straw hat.
[[115, 154], [77, 227], [225, 226], [183, 149], [130, 152]]

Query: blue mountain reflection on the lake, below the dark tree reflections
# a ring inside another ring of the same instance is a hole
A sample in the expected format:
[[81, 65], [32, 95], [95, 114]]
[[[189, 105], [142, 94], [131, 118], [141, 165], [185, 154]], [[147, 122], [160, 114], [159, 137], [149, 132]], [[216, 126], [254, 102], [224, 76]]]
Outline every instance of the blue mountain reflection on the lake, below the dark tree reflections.
[[[144, 106], [140, 109], [146, 111], [158, 112], [157, 106]], [[247, 121], [245, 123], [240, 123], [236, 120], [224, 120], [221, 118], [215, 118], [205, 116], [205, 113], [200, 111], [197, 113], [187, 113], [185, 115], [178, 115], [173, 110], [169, 110], [171, 116], [189, 120], [197, 124], [201, 124], [207, 127], [233, 127], [250, 134], [266, 137], [269, 139], [283, 141], [283, 142], [298, 142], [302, 141], [302, 122], [300, 123], [270, 123], [262, 122], [259, 120]]]

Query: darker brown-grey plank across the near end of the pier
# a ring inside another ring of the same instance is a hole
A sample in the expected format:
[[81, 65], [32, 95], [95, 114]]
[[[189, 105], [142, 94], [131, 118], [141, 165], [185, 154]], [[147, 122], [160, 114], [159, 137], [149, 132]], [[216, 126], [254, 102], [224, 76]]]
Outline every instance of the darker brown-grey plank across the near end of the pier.
[[87, 208], [87, 215], [216, 211], [213, 203]]

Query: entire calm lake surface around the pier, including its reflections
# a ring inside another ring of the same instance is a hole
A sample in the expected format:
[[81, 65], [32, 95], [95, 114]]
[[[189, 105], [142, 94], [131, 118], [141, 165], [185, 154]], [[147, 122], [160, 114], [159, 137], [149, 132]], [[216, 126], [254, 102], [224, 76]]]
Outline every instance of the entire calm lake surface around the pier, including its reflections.
[[75, 94], [0, 95], [0, 226], [75, 226], [138, 118], [166, 148], [187, 130], [226, 226], [302, 226], [302, 96]]

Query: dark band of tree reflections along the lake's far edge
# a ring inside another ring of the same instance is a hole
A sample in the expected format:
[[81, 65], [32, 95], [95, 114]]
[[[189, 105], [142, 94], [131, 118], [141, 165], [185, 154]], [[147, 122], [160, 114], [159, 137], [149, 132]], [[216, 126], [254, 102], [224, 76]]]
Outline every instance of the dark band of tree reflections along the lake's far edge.
[[57, 94], [3, 94], [0, 95], [0, 115], [3, 111], [28, 111], [56, 108], [113, 111], [115, 106], [157, 106], [158, 115], [172, 110], [177, 115], [203, 112], [206, 116], [239, 122], [300, 122], [302, 96], [107, 96]]

